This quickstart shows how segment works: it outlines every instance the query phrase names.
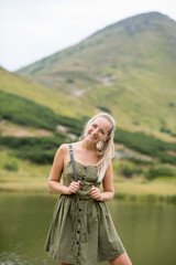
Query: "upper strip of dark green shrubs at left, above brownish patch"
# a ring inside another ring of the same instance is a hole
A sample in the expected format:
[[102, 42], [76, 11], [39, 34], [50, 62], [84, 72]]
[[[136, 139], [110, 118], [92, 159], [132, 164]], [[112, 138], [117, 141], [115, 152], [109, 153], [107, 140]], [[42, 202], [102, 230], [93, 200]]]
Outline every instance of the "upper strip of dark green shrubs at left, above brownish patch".
[[0, 117], [20, 125], [56, 130], [58, 124], [70, 128], [80, 128], [82, 120], [54, 113], [51, 108], [30, 99], [0, 92]]

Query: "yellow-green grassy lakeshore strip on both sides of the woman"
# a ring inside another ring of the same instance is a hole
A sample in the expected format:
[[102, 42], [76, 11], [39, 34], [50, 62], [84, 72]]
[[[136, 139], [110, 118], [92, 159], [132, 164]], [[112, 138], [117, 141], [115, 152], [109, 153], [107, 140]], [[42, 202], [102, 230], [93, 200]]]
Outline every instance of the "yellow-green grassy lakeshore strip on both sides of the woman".
[[[21, 161], [15, 158], [13, 162], [18, 165], [18, 171], [9, 171], [3, 168], [8, 155], [1, 152], [0, 157], [1, 192], [51, 192], [47, 186], [51, 166], [36, 166], [32, 162]], [[176, 179], [167, 177], [147, 181], [141, 177], [128, 180], [116, 176], [114, 191], [116, 199], [176, 202]]]

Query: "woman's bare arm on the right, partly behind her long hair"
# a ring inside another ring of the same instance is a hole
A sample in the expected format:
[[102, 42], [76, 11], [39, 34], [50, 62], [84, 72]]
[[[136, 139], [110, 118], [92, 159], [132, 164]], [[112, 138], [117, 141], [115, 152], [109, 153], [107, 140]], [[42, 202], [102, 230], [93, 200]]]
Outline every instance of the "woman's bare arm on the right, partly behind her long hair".
[[98, 201], [110, 201], [113, 199], [113, 174], [112, 174], [112, 163], [110, 162], [102, 180], [103, 192], [96, 187], [92, 187], [90, 192], [91, 197]]

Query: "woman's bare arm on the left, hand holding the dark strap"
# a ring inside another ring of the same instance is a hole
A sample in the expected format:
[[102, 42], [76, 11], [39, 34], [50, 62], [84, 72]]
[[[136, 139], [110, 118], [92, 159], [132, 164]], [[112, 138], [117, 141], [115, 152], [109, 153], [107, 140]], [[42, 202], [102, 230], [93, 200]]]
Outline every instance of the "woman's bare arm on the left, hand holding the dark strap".
[[48, 186], [52, 190], [57, 191], [63, 194], [72, 194], [77, 192], [79, 189], [79, 182], [73, 181], [69, 187], [63, 186], [61, 183], [61, 177], [64, 168], [64, 158], [67, 152], [67, 146], [62, 145], [54, 158], [53, 167], [51, 170], [51, 174], [48, 177]]

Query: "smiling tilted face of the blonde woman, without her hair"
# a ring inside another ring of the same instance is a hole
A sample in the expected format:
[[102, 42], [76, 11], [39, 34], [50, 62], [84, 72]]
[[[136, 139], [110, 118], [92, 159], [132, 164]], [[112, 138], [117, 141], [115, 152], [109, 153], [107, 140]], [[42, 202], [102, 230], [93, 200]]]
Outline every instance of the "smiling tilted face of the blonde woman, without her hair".
[[86, 138], [95, 144], [101, 140], [106, 141], [111, 127], [112, 125], [108, 119], [97, 117], [88, 127]]

